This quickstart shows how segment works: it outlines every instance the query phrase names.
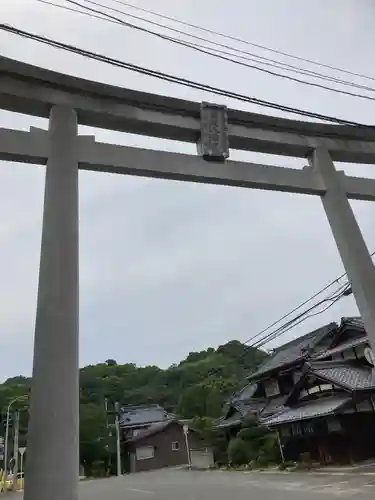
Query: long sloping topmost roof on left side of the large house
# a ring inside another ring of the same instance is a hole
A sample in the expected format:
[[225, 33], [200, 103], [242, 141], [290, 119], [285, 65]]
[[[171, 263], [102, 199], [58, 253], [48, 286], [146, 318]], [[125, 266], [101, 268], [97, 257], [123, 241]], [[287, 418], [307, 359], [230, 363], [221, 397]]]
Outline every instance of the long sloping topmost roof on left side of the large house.
[[309, 350], [334, 328], [337, 328], [337, 324], [329, 323], [328, 325], [318, 328], [303, 337], [298, 337], [297, 339], [294, 339], [291, 342], [277, 348], [273, 355], [248, 378], [254, 379], [272, 370], [281, 368], [283, 365], [289, 365], [298, 360], [304, 359]]

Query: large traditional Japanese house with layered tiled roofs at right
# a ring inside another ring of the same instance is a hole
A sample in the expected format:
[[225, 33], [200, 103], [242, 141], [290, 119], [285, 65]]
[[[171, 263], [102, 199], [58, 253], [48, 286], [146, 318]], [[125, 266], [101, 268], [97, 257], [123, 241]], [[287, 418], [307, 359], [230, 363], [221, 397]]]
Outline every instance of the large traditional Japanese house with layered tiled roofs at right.
[[303, 452], [323, 463], [375, 456], [373, 355], [360, 318], [343, 318], [275, 350], [247, 387], [241, 391], [251, 387], [247, 407], [262, 400], [263, 406], [236, 414], [236, 395], [220, 427], [234, 432], [235, 415], [242, 421], [255, 414], [279, 433], [286, 459]]

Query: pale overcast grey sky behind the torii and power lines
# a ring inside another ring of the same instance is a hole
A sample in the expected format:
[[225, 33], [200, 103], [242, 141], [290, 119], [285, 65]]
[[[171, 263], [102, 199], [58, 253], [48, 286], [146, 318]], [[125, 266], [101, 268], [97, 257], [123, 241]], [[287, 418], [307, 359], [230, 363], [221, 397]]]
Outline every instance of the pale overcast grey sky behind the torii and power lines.
[[[55, 1], [64, 4], [64, 0]], [[1, 3], [2, 22], [28, 31], [261, 99], [375, 122], [375, 103], [369, 101], [241, 68], [36, 0]], [[116, 7], [112, 0], [101, 3]], [[132, 3], [375, 76], [372, 0]], [[14, 35], [0, 33], [0, 47], [5, 56], [84, 78], [271, 114], [271, 110], [150, 79]], [[47, 122], [0, 112], [0, 125], [27, 129], [47, 127]], [[101, 141], [195, 154], [191, 145], [81, 130], [95, 133]], [[232, 152], [231, 158], [295, 168], [304, 164], [244, 152]], [[340, 168], [351, 175], [375, 177], [370, 166]], [[0, 164], [0, 379], [31, 372], [43, 183], [41, 167]], [[115, 358], [121, 363], [166, 367], [189, 351], [234, 338], [244, 341], [343, 271], [318, 198], [98, 173], [80, 173], [80, 196], [81, 365]], [[374, 250], [375, 205], [355, 202], [352, 206]], [[354, 300], [342, 299], [283, 340], [356, 314]]]

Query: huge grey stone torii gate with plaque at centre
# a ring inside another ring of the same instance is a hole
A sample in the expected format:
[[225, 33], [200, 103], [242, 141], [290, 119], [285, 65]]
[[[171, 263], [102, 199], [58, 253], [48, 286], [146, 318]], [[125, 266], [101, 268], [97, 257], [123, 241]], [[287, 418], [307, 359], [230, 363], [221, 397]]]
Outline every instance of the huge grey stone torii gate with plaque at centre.
[[[306, 123], [121, 89], [0, 58], [0, 109], [49, 118], [0, 129], [0, 160], [46, 165], [25, 500], [77, 500], [78, 169], [320, 196], [375, 347], [375, 271], [349, 199], [375, 180], [334, 161], [375, 163], [375, 129]], [[191, 143], [199, 155], [97, 143], [78, 124]], [[301, 170], [227, 161], [231, 149], [307, 159]]]

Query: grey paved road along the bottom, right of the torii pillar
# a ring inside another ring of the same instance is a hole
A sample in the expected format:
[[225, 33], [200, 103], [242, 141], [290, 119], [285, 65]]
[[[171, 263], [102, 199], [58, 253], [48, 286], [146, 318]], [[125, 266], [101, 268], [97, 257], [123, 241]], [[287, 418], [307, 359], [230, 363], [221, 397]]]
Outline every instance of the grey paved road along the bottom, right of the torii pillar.
[[375, 476], [164, 470], [81, 483], [80, 500], [325, 500], [374, 495]]

